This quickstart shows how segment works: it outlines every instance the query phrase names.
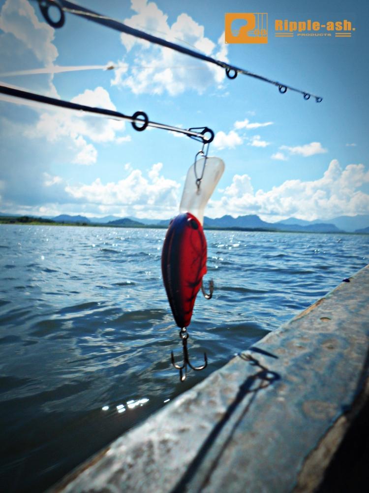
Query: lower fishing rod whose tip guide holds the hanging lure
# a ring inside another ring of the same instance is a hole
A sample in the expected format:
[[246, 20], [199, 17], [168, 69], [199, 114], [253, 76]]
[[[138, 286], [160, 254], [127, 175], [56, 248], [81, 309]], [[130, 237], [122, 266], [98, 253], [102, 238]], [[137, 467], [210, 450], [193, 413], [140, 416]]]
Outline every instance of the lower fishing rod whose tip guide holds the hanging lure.
[[132, 116], [129, 116], [124, 115], [119, 111], [80, 105], [79, 103], [71, 103], [69, 101], [63, 101], [60, 99], [51, 98], [49, 96], [42, 96], [41, 94], [31, 93], [29, 91], [25, 91], [24, 89], [19, 89], [14, 86], [3, 84], [0, 84], [0, 93], [6, 94], [7, 96], [22, 98], [27, 101], [33, 101], [36, 103], [58, 106], [66, 109], [75, 109], [77, 111], [83, 111], [85, 113], [91, 113], [94, 115], [107, 116], [109, 118], [118, 120], [128, 120], [132, 124], [132, 127], [138, 132], [142, 132], [147, 127], [154, 127], [187, 135], [191, 139], [203, 142], [204, 145], [210, 144], [210, 142], [214, 140], [214, 132], [208, 127], [192, 127], [188, 129], [172, 127], [171, 125], [165, 125], [163, 123], [150, 121], [148, 115], [144, 111], [136, 111]]

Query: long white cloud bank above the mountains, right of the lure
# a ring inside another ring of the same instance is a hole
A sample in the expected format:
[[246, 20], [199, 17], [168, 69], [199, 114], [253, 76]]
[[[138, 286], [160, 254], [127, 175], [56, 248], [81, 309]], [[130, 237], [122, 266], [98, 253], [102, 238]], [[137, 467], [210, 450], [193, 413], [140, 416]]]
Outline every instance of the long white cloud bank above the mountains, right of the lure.
[[233, 215], [298, 216], [307, 220], [368, 214], [369, 195], [361, 190], [365, 183], [369, 183], [369, 171], [363, 164], [350, 164], [342, 169], [336, 159], [321, 178], [287, 180], [268, 191], [254, 192], [248, 175], [235, 175], [221, 199], [211, 201], [210, 214], [216, 217], [227, 211]]

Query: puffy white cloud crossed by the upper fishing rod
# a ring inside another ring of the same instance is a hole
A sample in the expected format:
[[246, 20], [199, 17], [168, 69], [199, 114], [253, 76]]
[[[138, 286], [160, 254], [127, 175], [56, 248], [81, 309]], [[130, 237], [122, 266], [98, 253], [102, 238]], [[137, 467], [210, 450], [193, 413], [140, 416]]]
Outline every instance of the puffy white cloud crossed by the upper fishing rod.
[[[198, 24], [186, 13], [180, 14], [170, 25], [168, 15], [156, 3], [148, 0], [131, 0], [136, 13], [124, 19], [130, 27], [163, 37], [176, 44], [197, 49], [206, 55], [223, 61], [227, 60], [227, 45], [224, 35], [217, 43], [205, 36], [204, 26]], [[128, 87], [134, 94], [162, 94], [171, 96], [186, 90], [203, 93], [208, 87], [219, 86], [225, 78], [225, 71], [213, 64], [178, 53], [169, 48], [153, 45], [146, 40], [122, 34], [122, 43], [128, 52], [135, 55], [135, 64], [129, 69], [124, 60], [116, 71], [113, 85]], [[138, 47], [139, 50], [134, 51]]]

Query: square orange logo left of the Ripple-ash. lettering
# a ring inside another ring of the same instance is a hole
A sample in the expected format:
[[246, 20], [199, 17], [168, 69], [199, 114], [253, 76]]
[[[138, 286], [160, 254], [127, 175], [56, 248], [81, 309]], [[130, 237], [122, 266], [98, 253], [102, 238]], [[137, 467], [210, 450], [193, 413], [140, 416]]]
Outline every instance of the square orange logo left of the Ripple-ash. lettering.
[[225, 14], [226, 43], [267, 43], [267, 13], [227, 13]]

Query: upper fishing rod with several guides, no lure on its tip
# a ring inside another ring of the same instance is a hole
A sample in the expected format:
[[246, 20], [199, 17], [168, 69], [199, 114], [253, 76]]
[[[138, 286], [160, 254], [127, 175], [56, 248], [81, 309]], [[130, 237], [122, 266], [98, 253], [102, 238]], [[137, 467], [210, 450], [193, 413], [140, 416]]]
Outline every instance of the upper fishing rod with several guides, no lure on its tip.
[[[281, 94], [284, 94], [285, 92], [287, 92], [287, 89], [289, 89], [290, 91], [295, 91], [297, 93], [302, 94], [305, 100], [310, 99], [310, 97], [315, 98], [315, 101], [317, 103], [320, 103], [323, 100], [323, 98], [321, 98], [320, 96], [316, 96], [315, 94], [311, 94], [307, 91], [302, 91], [301, 89], [296, 89], [295, 87], [291, 87], [287, 84], [283, 84], [276, 80], [269, 79], [267, 77], [264, 77], [263, 75], [258, 75], [257, 73], [251, 72], [249, 70], [241, 69], [234, 65], [227, 64], [226, 62], [222, 62], [221, 60], [216, 60], [215, 58], [209, 57], [197, 51], [191, 50], [189, 48], [185, 48], [184, 46], [181, 46], [179, 44], [172, 43], [171, 41], [166, 41], [165, 39], [162, 39], [160, 37], [150, 35], [148, 33], [145, 33], [144, 31], [131, 28], [129, 26], [126, 26], [122, 22], [112, 19], [111, 17], [98, 14], [97, 12], [93, 12], [92, 10], [82, 7], [81, 5], [77, 5], [76, 3], [67, 0], [34, 0], [34, 1], [38, 2], [41, 13], [44, 19], [46, 20], [46, 22], [55, 29], [61, 28], [64, 25], [65, 22], [64, 12], [68, 12], [77, 15], [79, 17], [84, 17], [92, 22], [102, 24], [103, 26], [107, 26], [111, 29], [114, 29], [115, 31], [119, 31], [121, 33], [139, 37], [141, 39], [146, 39], [151, 43], [159, 44], [161, 46], [164, 46], [165, 48], [170, 48], [172, 50], [178, 51], [179, 53], [183, 53], [184, 55], [189, 55], [199, 60], [203, 60], [204, 62], [215, 64], [218, 67], [225, 69], [226, 76], [229, 79], [235, 79], [239, 73], [242, 73], [244, 75], [248, 75], [249, 77], [254, 77], [255, 79], [263, 80], [264, 82], [268, 82], [269, 84], [273, 84], [277, 86]], [[49, 14], [50, 7], [56, 7], [58, 9], [60, 17], [57, 21], [54, 21], [50, 17]]]

